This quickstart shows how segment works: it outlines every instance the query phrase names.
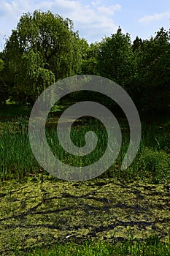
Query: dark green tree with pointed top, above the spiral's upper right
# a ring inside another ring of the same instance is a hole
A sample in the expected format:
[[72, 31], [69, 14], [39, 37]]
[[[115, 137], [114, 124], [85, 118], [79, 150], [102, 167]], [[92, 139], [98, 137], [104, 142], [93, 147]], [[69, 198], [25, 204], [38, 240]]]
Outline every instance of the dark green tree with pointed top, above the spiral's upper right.
[[129, 35], [123, 34], [119, 28], [116, 34], [104, 38], [98, 52], [98, 64], [100, 75], [128, 88], [134, 75], [134, 54]]

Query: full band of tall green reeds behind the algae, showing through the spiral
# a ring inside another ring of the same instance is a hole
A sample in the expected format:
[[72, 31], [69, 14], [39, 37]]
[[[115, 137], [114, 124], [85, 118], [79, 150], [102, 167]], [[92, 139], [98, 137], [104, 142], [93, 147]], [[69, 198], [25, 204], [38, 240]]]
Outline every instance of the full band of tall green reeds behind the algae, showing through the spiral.
[[[1, 124], [0, 124], [1, 125]], [[157, 182], [161, 179], [169, 179], [170, 173], [170, 151], [169, 151], [169, 130], [157, 125], [148, 126], [142, 124], [142, 141], [136, 159], [123, 173], [120, 171], [121, 162], [127, 151], [129, 143], [128, 126], [120, 124], [122, 127], [123, 145], [115, 163], [104, 175], [128, 177], [157, 177]], [[71, 138], [76, 146], [85, 145], [85, 133], [92, 130], [98, 137], [96, 149], [87, 156], [72, 156], [64, 151], [58, 142], [55, 126], [47, 126], [47, 142], [52, 148], [53, 154], [64, 163], [73, 166], [90, 165], [96, 162], [104, 154], [107, 148], [107, 131], [98, 121], [88, 121], [72, 127]], [[26, 175], [37, 173], [40, 170], [31, 151], [28, 138], [28, 119], [18, 118], [10, 124], [6, 124], [1, 131], [0, 140], [0, 178], [22, 178]], [[64, 139], [64, 138], [63, 138]], [[166, 170], [166, 171], [164, 171]], [[162, 173], [162, 174], [160, 174]]]

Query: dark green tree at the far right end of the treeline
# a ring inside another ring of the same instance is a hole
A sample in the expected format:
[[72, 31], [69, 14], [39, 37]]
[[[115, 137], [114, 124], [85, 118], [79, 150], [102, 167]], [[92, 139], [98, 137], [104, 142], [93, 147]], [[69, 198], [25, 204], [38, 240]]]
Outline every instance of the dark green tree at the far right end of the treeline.
[[154, 116], [169, 109], [170, 99], [170, 33], [163, 28], [155, 37], [143, 40], [135, 49], [136, 83], [140, 91], [139, 105]]

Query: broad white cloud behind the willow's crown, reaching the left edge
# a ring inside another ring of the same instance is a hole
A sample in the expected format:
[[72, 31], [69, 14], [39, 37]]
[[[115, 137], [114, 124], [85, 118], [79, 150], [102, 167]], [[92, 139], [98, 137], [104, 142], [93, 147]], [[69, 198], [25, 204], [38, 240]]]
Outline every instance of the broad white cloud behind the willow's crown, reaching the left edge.
[[89, 42], [98, 41], [101, 37], [109, 36], [117, 29], [114, 22], [114, 14], [121, 9], [120, 4], [105, 6], [100, 0], [89, 1], [89, 4], [77, 0], [0, 0], [0, 23], [3, 31], [2, 37], [9, 37], [12, 29], [15, 29], [19, 18], [24, 12], [34, 10], [58, 13], [63, 18], [70, 18], [74, 22], [74, 28], [80, 31], [80, 36]]

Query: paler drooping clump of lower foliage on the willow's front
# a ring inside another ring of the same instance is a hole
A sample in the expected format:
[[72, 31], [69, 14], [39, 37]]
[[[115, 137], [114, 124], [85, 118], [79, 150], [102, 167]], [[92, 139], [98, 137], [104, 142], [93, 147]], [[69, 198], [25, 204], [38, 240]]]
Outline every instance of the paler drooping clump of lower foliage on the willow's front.
[[16, 100], [33, 104], [36, 97], [55, 82], [53, 72], [43, 66], [38, 52], [34, 53], [33, 50], [29, 50], [28, 53], [23, 53], [13, 88]]

